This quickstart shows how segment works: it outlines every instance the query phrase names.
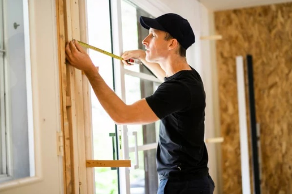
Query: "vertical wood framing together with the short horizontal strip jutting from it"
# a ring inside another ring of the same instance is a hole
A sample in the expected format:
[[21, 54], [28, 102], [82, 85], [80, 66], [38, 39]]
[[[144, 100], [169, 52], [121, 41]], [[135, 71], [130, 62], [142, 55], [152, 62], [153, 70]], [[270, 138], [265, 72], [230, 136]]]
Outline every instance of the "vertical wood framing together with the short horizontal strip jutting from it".
[[66, 65], [65, 58], [66, 42], [73, 39], [88, 42], [85, 2], [56, 0], [64, 194], [93, 194], [92, 167], [131, 166], [130, 160], [92, 160], [90, 85], [80, 70]]

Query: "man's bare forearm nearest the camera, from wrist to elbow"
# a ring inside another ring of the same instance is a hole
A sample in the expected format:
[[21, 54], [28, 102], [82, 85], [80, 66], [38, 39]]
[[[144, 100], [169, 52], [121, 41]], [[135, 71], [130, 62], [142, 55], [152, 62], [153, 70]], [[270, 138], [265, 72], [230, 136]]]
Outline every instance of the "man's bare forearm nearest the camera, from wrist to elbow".
[[85, 74], [104, 110], [115, 123], [120, 123], [125, 116], [127, 105], [107, 86], [96, 68]]

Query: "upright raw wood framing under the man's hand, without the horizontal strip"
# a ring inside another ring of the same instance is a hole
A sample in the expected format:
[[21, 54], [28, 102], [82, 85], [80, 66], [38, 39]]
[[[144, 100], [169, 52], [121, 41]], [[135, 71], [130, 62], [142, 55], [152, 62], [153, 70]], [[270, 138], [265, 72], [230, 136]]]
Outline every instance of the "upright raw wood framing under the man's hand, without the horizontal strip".
[[80, 40], [79, 1], [56, 0], [56, 10], [64, 141], [64, 193], [87, 194], [83, 75], [80, 70], [66, 65], [65, 59], [65, 43], [73, 38]]

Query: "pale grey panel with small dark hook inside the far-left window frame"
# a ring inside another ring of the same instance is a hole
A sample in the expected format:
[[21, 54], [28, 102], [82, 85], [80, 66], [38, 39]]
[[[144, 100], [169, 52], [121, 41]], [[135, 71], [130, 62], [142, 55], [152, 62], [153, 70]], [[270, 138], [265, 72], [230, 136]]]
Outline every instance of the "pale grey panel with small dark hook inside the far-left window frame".
[[[6, 0], [6, 49], [13, 177], [30, 175], [22, 0]], [[14, 28], [14, 22], [20, 24]]]

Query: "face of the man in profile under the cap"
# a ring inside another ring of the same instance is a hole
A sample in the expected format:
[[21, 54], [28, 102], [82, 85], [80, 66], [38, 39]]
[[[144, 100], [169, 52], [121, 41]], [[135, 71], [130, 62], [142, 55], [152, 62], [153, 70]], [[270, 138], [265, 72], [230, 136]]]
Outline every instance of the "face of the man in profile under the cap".
[[146, 48], [146, 61], [159, 62], [167, 57], [168, 43], [165, 40], [166, 32], [149, 29], [149, 35], [142, 41]]

